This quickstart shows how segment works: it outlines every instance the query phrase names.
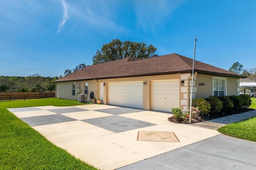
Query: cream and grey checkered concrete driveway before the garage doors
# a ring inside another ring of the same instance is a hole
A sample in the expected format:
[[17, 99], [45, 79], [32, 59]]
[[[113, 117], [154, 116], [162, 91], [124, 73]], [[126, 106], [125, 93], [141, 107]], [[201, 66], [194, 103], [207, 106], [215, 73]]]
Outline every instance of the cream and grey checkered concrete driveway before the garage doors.
[[[56, 146], [102, 170], [113, 170], [220, 134], [171, 123], [170, 113], [110, 105], [8, 109]], [[175, 132], [180, 142], [137, 141], [138, 131]]]

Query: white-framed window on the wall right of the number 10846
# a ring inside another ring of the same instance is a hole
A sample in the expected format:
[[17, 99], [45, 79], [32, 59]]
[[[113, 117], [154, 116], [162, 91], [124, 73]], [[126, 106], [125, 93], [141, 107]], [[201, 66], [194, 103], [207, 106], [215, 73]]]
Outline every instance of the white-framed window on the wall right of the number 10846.
[[213, 96], [219, 97], [226, 95], [226, 78], [213, 77]]

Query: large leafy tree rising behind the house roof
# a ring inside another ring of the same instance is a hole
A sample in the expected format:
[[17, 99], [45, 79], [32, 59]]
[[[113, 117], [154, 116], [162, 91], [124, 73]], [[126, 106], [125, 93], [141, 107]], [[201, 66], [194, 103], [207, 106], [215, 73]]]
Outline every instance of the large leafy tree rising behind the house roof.
[[126, 57], [149, 58], [158, 56], [156, 47], [152, 44], [146, 45], [145, 42], [112, 40], [110, 43], [103, 44], [101, 50], [97, 49], [93, 56], [93, 64], [105, 63]]

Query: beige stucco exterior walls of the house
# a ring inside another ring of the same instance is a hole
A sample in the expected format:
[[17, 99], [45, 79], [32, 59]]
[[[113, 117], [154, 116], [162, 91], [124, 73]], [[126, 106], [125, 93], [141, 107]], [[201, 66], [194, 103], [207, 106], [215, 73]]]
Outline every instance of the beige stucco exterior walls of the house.
[[[124, 77], [112, 79], [98, 79], [98, 80], [83, 80], [83, 81], [68, 81], [56, 83], [56, 97], [61, 99], [77, 100], [78, 94], [84, 94], [84, 84], [88, 83], [88, 98], [90, 101], [90, 93], [94, 92], [94, 97], [101, 99], [104, 104], [108, 104], [108, 84], [111, 82], [129, 82], [129, 81], [142, 81], [143, 84], [143, 109], [151, 110], [152, 107], [152, 81], [157, 80], [184, 80], [184, 85], [180, 85], [180, 109], [186, 111], [189, 105], [189, 92], [191, 81], [188, 81], [191, 73], [185, 74], [169, 74], [169, 75], [152, 75], [141, 77]], [[209, 97], [213, 95], [213, 77], [212, 75], [197, 74], [193, 81], [193, 95], [192, 98]], [[238, 95], [238, 79], [232, 77], [220, 77], [226, 80], [226, 95]], [[76, 95], [72, 96], [72, 83], [76, 83]], [[103, 87], [103, 83], [105, 86]], [[78, 88], [79, 85], [79, 88]], [[188, 86], [189, 85], [189, 86]], [[100, 87], [102, 86], [102, 87]], [[81, 89], [81, 91], [79, 90]], [[104, 93], [100, 92], [104, 89]], [[104, 94], [101, 95], [100, 94]]]

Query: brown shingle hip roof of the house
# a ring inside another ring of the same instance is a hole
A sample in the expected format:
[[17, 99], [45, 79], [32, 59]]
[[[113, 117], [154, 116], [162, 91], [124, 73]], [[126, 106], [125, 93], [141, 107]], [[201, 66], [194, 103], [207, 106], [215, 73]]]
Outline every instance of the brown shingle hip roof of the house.
[[[116, 77], [136, 77], [142, 75], [192, 73], [192, 65], [193, 59], [178, 55], [176, 53], [147, 59], [127, 57], [116, 61], [90, 65], [84, 69], [66, 75], [55, 82]], [[244, 78], [244, 76], [196, 60], [194, 70], [198, 73], [209, 75]]]

